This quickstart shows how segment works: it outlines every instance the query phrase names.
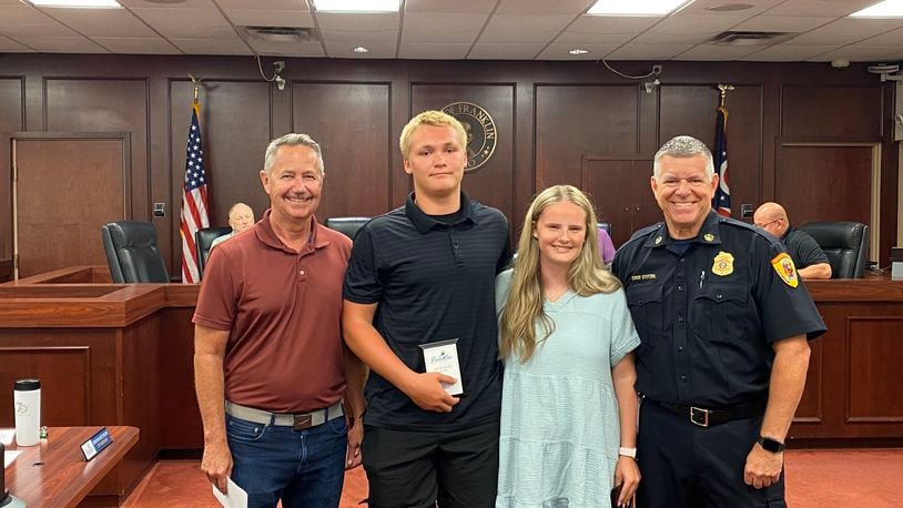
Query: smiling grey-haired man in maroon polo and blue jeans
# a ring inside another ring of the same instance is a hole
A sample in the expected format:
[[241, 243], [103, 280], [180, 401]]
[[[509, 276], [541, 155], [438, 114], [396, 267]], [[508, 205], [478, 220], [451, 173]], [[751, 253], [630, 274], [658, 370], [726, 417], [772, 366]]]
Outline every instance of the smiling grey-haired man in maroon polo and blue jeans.
[[270, 210], [211, 252], [197, 296], [201, 469], [224, 492], [231, 477], [248, 507], [337, 507], [361, 461], [365, 369], [339, 323], [351, 241], [316, 222], [324, 177], [310, 136], [271, 142]]

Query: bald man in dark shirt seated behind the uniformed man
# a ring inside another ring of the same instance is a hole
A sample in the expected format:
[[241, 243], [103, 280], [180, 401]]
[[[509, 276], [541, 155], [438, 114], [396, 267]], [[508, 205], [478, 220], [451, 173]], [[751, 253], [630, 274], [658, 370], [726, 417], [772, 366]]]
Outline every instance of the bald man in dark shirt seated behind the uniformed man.
[[815, 238], [790, 225], [783, 206], [773, 202], [763, 203], [753, 214], [752, 222], [784, 244], [801, 277], [831, 278], [831, 264], [824, 251]]

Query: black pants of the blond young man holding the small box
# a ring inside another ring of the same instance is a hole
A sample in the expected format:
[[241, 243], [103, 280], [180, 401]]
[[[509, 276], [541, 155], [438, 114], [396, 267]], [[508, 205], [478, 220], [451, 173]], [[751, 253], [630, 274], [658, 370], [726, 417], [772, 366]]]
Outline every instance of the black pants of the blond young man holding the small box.
[[457, 431], [364, 426], [372, 508], [480, 508], [496, 502], [498, 423]]

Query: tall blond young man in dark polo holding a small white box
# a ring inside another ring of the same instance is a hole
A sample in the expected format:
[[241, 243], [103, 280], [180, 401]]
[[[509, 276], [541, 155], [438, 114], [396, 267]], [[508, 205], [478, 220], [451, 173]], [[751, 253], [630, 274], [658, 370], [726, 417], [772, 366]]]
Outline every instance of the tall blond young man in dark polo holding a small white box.
[[[348, 261], [342, 324], [371, 367], [362, 450], [374, 508], [495, 502], [494, 291], [510, 250], [505, 216], [461, 192], [466, 140], [461, 124], [438, 111], [408, 122], [399, 144], [414, 192], [357, 233]], [[459, 378], [425, 368], [423, 346], [449, 339]], [[446, 390], [456, 382], [463, 396]]]

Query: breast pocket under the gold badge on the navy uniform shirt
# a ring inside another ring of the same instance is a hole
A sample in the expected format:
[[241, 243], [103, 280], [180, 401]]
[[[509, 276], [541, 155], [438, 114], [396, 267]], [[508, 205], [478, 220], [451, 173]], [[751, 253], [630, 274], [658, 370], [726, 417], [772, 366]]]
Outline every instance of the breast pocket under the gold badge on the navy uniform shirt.
[[696, 297], [693, 328], [703, 341], [733, 343], [745, 334], [749, 292], [741, 284], [711, 283]]

